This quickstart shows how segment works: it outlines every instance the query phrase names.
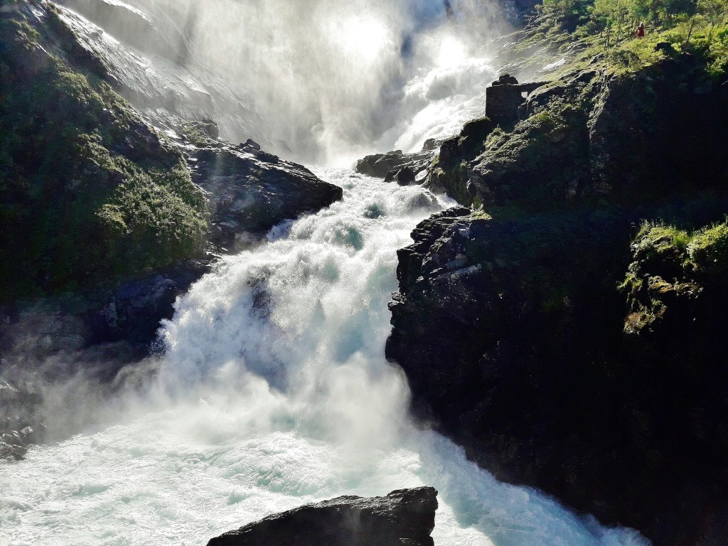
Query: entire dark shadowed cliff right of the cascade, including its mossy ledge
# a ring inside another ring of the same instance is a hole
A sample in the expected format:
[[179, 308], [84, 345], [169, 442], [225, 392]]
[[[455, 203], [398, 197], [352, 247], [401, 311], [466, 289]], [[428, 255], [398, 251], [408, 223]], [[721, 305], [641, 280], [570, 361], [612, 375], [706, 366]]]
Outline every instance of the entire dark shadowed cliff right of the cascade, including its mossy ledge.
[[[443, 142], [428, 183], [482, 210], [433, 216], [398, 253], [387, 357], [415, 414], [498, 478], [655, 545], [717, 546], [728, 95], [699, 107], [690, 62], [578, 71], [514, 127]], [[635, 237], [646, 218], [678, 225]]]

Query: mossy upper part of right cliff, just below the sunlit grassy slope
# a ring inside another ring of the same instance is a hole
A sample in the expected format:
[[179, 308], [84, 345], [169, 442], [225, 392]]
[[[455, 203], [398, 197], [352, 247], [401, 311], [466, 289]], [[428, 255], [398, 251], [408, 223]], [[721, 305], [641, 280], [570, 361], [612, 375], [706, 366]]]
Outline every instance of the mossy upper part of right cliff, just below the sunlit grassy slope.
[[643, 202], [687, 181], [715, 186], [727, 175], [719, 127], [728, 90], [696, 95], [699, 65], [667, 56], [639, 74], [612, 74], [595, 62], [542, 84], [520, 122], [496, 129], [491, 120], [470, 151], [456, 143], [465, 132], [443, 142], [427, 184], [465, 205], [531, 210], [600, 197]]

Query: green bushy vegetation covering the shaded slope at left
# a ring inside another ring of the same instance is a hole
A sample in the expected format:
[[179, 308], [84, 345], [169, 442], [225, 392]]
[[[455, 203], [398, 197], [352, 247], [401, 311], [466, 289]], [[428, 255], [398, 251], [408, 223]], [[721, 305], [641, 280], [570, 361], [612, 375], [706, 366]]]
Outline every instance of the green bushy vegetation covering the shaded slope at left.
[[205, 232], [181, 155], [108, 84], [49, 53], [55, 26], [0, 19], [0, 301], [170, 264]]

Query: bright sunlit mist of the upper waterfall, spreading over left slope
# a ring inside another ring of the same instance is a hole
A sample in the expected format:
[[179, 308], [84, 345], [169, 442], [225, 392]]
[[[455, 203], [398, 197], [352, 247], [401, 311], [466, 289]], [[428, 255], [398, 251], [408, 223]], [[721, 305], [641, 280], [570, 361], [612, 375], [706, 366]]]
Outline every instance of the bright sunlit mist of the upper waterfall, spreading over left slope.
[[419, 151], [427, 138], [459, 132], [483, 115], [494, 79], [488, 44], [507, 28], [485, 0], [450, 0], [449, 16], [443, 0], [114, 1], [132, 14], [127, 23], [100, 1], [63, 3], [146, 52], [107, 44], [136, 106], [150, 108], [138, 82], [169, 87], [172, 104], [162, 108], [213, 117], [229, 141], [256, 138], [309, 165]]

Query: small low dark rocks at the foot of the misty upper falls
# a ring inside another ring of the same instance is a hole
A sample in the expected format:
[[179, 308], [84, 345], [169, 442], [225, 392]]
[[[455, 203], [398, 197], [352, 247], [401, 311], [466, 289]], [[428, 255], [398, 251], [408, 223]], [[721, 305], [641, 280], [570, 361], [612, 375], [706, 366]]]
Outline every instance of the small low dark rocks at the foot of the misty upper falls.
[[363, 175], [384, 178], [385, 182], [397, 181], [401, 186], [408, 186], [430, 166], [437, 147], [438, 141], [430, 139], [416, 154], [403, 154], [401, 150], [373, 154], [360, 159], [356, 170]]

